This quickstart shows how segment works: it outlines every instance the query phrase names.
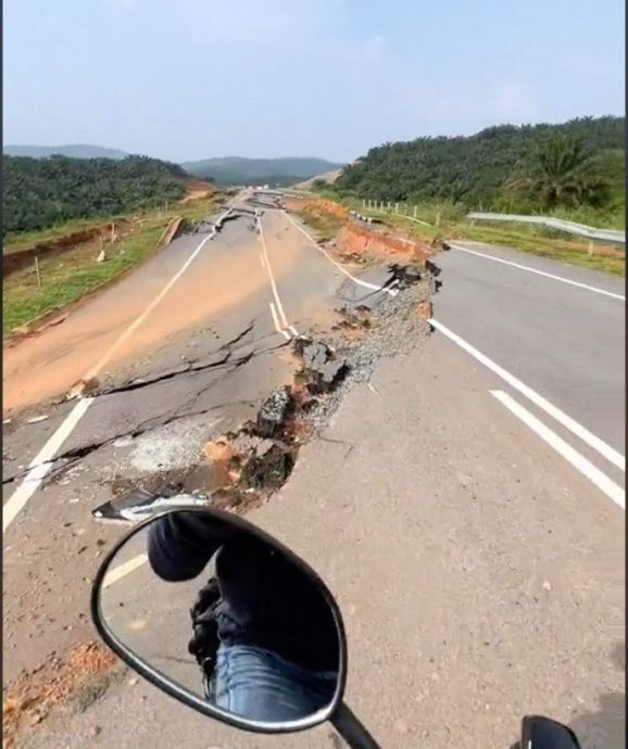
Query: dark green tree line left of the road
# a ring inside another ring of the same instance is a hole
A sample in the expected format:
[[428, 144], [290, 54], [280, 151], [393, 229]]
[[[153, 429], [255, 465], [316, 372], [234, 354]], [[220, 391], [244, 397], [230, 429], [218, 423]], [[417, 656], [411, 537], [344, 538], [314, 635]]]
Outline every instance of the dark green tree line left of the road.
[[148, 156], [2, 156], [2, 237], [178, 200], [187, 173]]

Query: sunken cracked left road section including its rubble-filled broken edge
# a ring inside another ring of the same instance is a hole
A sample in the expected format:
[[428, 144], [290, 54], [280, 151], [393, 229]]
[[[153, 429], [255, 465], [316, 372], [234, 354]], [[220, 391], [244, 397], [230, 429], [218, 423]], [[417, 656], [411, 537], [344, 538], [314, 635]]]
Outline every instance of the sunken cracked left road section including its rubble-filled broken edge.
[[[355, 257], [346, 258], [348, 247], [325, 246], [355, 274], [348, 276], [274, 206], [260, 198], [236, 206], [234, 218], [223, 221], [194, 259], [193, 272], [181, 277], [115, 365], [103, 369], [89, 391], [89, 411], [9, 528], [7, 684], [28, 680], [52, 651], [61, 656], [91, 638], [90, 580], [120, 535], [93, 521], [95, 508], [130, 495], [180, 492], [209, 496], [214, 506], [236, 512], [267, 502], [298, 470], [302, 446], [326, 439], [348, 390], [363, 383], [375, 391], [376, 363], [403, 355], [428, 334], [422, 315], [435, 282], [424, 258], [382, 255], [375, 245], [353, 246]], [[258, 219], [286, 313], [298, 329], [289, 341], [277, 334], [269, 315], [273, 296], [261, 262], [266, 258], [260, 236], [250, 230]], [[209, 225], [205, 230], [212, 231]], [[50, 338], [41, 356], [46, 377], [55, 366], [67, 377], [68, 369], [84, 369], [92, 353], [99, 356], [103, 320], [110, 330], [128, 300], [142, 293], [150, 303], [153, 276], [172, 274], [198, 244], [198, 237], [181, 236], [103, 294], [98, 308], [87, 305], [81, 316], [48, 331], [40, 339]], [[33, 405], [30, 422], [30, 412], [10, 415], [7, 493], [72, 407]]]

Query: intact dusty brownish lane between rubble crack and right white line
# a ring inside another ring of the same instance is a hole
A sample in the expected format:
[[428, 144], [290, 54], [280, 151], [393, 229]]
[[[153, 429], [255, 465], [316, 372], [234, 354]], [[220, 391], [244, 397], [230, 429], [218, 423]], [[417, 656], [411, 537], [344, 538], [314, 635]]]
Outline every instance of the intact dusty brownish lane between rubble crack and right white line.
[[[348, 703], [385, 749], [508, 749], [532, 712], [570, 724], [585, 749], [623, 747], [621, 511], [513, 419], [490, 395], [497, 378], [442, 337], [381, 363], [370, 384], [249, 516], [337, 596]], [[238, 733], [133, 678], [23, 746], [155, 741], [339, 746], [329, 725]]]

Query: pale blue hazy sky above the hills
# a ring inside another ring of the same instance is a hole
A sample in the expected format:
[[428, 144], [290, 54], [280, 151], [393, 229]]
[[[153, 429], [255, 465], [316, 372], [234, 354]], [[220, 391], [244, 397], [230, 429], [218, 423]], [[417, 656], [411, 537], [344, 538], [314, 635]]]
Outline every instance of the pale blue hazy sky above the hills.
[[624, 0], [4, 0], [3, 142], [321, 156], [625, 113]]

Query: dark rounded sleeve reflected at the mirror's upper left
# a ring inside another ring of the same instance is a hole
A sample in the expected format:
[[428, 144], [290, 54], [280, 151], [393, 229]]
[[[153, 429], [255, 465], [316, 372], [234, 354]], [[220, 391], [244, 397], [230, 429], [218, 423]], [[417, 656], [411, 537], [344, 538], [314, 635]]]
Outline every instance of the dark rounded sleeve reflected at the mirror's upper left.
[[228, 523], [209, 513], [169, 512], [149, 525], [148, 558], [162, 580], [191, 580], [233, 534]]

